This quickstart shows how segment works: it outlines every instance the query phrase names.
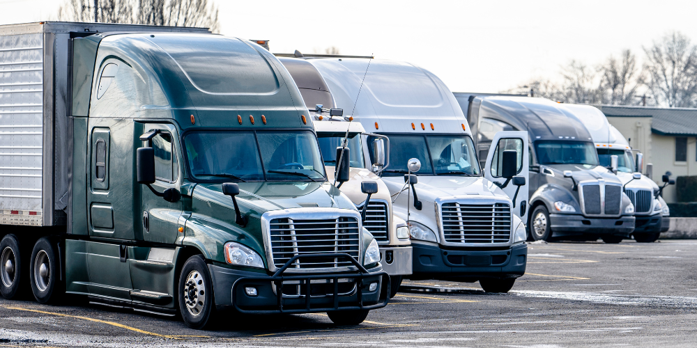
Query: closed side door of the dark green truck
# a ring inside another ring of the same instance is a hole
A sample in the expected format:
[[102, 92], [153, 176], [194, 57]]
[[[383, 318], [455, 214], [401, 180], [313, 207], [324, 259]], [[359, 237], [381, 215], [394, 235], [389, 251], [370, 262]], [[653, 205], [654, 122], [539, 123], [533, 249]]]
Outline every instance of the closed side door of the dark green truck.
[[[152, 147], [155, 152], [155, 183], [153, 189], [163, 192], [166, 189], [176, 189], [181, 192], [180, 156], [178, 134], [174, 125], [145, 123], [144, 134], [155, 132], [150, 139], [143, 141], [142, 146]], [[141, 185], [141, 207], [143, 223], [143, 240], [172, 244], [179, 234], [179, 216], [182, 212], [181, 200], [167, 202], [145, 185]]]

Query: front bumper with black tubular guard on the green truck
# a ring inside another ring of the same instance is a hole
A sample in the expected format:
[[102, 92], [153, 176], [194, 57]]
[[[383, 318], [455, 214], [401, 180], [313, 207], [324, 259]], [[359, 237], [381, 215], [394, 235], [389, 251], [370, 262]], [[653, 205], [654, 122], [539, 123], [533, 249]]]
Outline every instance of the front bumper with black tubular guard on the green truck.
[[[337, 255], [351, 258], [347, 254]], [[302, 258], [312, 256], [315, 255], [303, 255]], [[332, 255], [322, 255], [328, 256]], [[291, 258], [272, 276], [209, 264], [216, 306], [255, 314], [371, 310], [387, 306], [388, 299], [381, 299], [380, 295], [383, 284], [390, 286], [390, 276], [381, 270], [379, 264], [368, 271], [351, 258], [357, 266], [356, 271], [302, 274], [286, 272], [296, 258]], [[377, 287], [370, 291], [372, 283], [377, 283]], [[248, 295], [245, 287], [256, 288], [256, 296]], [[278, 291], [279, 289], [283, 291]], [[306, 296], [307, 293], [310, 296]]]

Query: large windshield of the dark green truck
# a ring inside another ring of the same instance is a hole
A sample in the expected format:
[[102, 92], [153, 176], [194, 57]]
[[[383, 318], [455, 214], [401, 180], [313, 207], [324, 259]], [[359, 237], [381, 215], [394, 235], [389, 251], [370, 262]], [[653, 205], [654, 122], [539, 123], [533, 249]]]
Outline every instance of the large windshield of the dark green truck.
[[324, 181], [325, 177], [312, 132], [190, 132], [184, 145], [190, 173], [198, 181]]

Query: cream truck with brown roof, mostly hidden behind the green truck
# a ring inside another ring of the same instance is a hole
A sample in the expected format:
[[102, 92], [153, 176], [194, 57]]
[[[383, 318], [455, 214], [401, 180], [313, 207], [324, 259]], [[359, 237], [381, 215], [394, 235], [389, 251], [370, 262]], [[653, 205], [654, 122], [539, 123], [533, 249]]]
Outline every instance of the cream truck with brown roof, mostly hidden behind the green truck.
[[[348, 116], [344, 117], [343, 110], [335, 108], [334, 97], [326, 81], [307, 60], [279, 58], [279, 61], [288, 69], [305, 100], [308, 114], [317, 133], [329, 182], [335, 181], [337, 148], [342, 146], [345, 139], [346, 148], [349, 150], [347, 153], [350, 154], [348, 163], [351, 180], [342, 184], [342, 192], [359, 210], [362, 210], [366, 199], [361, 191], [362, 182], [372, 181], [378, 184], [378, 192], [371, 196], [366, 208], [364, 227], [378, 241], [383, 271], [390, 274], [390, 297], [395, 296], [402, 277], [411, 275], [412, 272], [409, 230], [406, 221], [392, 213], [392, 199], [385, 182], [372, 172], [373, 166], [383, 168], [385, 159], [378, 160], [380, 163], [372, 164], [367, 164], [366, 161], [369, 158], [369, 151], [374, 149], [385, 157], [385, 154], [389, 153], [389, 141], [376, 134], [368, 134], [360, 122]], [[332, 115], [332, 112], [337, 113], [337, 111], [342, 115]], [[368, 136], [377, 139], [367, 144]]]

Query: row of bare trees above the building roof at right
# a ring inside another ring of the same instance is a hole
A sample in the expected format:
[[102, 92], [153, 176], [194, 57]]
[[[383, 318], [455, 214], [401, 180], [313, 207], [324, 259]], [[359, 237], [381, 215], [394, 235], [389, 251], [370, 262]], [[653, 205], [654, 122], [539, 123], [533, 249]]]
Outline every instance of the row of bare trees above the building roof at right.
[[504, 92], [576, 104], [697, 107], [697, 45], [675, 31], [642, 49], [643, 63], [625, 49], [595, 66], [570, 61], [560, 82], [532, 79]]

